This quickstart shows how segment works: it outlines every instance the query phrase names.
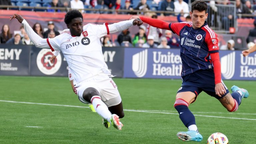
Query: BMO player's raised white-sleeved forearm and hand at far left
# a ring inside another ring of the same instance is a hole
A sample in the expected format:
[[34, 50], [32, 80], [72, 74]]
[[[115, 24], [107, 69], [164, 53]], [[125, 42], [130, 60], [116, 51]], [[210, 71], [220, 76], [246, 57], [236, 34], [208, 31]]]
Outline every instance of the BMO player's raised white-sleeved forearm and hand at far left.
[[38, 47], [38, 48], [50, 48], [46, 39], [41, 38], [39, 35], [37, 35], [33, 29], [29, 26], [29, 24], [27, 23], [27, 21], [25, 19], [23, 19], [22, 16], [18, 15], [18, 14], [14, 14], [13, 16], [10, 17], [10, 20], [16, 18], [23, 26], [24, 29], [26, 31], [26, 33], [28, 34], [28, 37], [30, 38], [30, 40], [33, 42], [33, 44]]

